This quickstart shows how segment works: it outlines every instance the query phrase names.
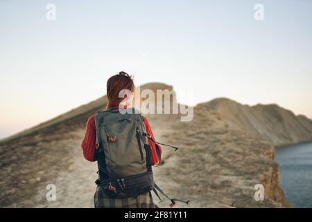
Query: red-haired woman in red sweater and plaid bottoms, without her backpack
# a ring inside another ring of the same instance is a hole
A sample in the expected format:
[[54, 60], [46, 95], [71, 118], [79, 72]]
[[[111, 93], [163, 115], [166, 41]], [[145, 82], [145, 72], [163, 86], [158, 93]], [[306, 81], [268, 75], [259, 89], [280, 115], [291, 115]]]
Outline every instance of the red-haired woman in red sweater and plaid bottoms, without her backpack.
[[[112, 76], [107, 80], [107, 99], [108, 104], [106, 109], [116, 108], [114, 110], [118, 110], [119, 107], [128, 108], [130, 104], [132, 104], [132, 96], [131, 98], [119, 98], [119, 92], [123, 89], [128, 89], [132, 92], [135, 92], [135, 84], [132, 80], [132, 77], [121, 71], [119, 74]], [[146, 133], [150, 134], [150, 136], [154, 138], [153, 132], [150, 128], [150, 124], [148, 123], [148, 119], [144, 118], [144, 126], [146, 128]], [[153, 166], [157, 166], [159, 164], [160, 155], [162, 153], [162, 149], [159, 145], [153, 143], [150, 139], [148, 140], [148, 144], [150, 146], [150, 162]], [[96, 126], [95, 126], [95, 115], [89, 117], [87, 121], [87, 128], [85, 132], [85, 138], [83, 139], [83, 143], [81, 144], [83, 148], [83, 155], [85, 159], [94, 162], [96, 161], [94, 158], [94, 153], [96, 149]], [[110, 198], [103, 192], [101, 186], [98, 185], [96, 188], [96, 193], [94, 194], [94, 206], [98, 207], [138, 207], [138, 208], [155, 208], [156, 205], [153, 203], [153, 198], [150, 191], [146, 194], [141, 194], [131, 198]]]

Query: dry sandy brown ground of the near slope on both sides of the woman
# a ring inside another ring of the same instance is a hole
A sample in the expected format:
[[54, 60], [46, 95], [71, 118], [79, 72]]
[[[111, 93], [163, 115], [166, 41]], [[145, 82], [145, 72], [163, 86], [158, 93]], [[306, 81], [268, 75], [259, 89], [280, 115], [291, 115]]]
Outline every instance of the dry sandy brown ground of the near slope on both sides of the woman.
[[[155, 180], [168, 194], [191, 200], [190, 205], [179, 207], [288, 206], [278, 178], [267, 191], [268, 199], [253, 200], [254, 185], [270, 180], [272, 171], [277, 173], [272, 146], [227, 129], [226, 123], [205, 109], [196, 108], [190, 123], [181, 123], [174, 115], [148, 118], [159, 141], [181, 147], [176, 153], [164, 149], [164, 164], [155, 169]], [[1, 207], [93, 206], [96, 164], [84, 160], [80, 150], [84, 126], [74, 128], [71, 132], [60, 126], [50, 132], [51, 137], [44, 132], [44, 136], [38, 134], [1, 146], [1, 151], [13, 148], [11, 156], [8, 152], [5, 156], [11, 164], [1, 167], [1, 177], [6, 177], [1, 181]], [[13, 160], [17, 163], [12, 164]], [[57, 187], [55, 202], [45, 198], [49, 183]], [[164, 201], [159, 206], [168, 204]]]

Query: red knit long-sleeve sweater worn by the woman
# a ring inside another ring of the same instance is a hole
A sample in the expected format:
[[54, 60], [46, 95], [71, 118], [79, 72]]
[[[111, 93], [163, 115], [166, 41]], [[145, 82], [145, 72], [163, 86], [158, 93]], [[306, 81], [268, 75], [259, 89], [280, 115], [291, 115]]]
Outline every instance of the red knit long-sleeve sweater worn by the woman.
[[[150, 128], [150, 123], [148, 123], [148, 119], [144, 117], [144, 125], [146, 128], [146, 133], [149, 133], [153, 139], [154, 135], [152, 129]], [[162, 148], [159, 145], [155, 145], [150, 139], [148, 139], [148, 144], [150, 145], [150, 162], [152, 165], [159, 164], [159, 157], [157, 155], [157, 148], [159, 149], [159, 153], [162, 154]], [[157, 147], [156, 147], [157, 146]], [[83, 155], [85, 159], [94, 162], [94, 152], [96, 147], [96, 127], [95, 127], [95, 115], [89, 117], [87, 121], [87, 127], [85, 131], [85, 138], [83, 139], [83, 143], [81, 144], [81, 148], [83, 148]]]

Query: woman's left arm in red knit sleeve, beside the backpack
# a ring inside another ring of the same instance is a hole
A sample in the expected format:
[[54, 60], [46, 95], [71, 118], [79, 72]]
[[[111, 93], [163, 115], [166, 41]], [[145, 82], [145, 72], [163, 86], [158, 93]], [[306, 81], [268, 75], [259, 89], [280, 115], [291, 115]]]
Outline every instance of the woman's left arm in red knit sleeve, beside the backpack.
[[95, 128], [95, 119], [94, 115], [89, 117], [87, 121], [87, 127], [85, 131], [85, 138], [83, 139], [83, 143], [81, 144], [81, 148], [83, 148], [83, 155], [85, 159], [94, 162], [94, 152], [96, 146], [96, 128]]

